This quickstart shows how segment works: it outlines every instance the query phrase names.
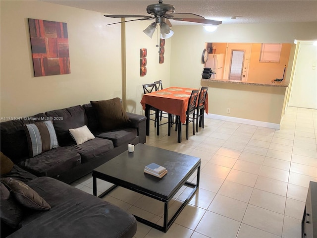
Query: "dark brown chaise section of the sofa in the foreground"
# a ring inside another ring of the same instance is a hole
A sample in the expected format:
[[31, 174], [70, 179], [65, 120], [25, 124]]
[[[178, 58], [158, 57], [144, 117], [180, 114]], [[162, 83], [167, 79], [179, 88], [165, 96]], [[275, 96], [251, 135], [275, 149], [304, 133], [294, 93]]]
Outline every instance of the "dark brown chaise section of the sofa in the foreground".
[[[51, 209], [38, 211], [25, 207], [14, 199], [12, 191], [4, 199], [2, 179], [5, 178], [27, 184]], [[59, 180], [36, 178], [16, 165], [1, 178], [0, 191], [1, 238], [133, 238], [137, 230], [134, 216], [115, 205]], [[8, 205], [9, 208], [3, 207]], [[5, 211], [9, 209], [12, 216], [7, 217]]]

